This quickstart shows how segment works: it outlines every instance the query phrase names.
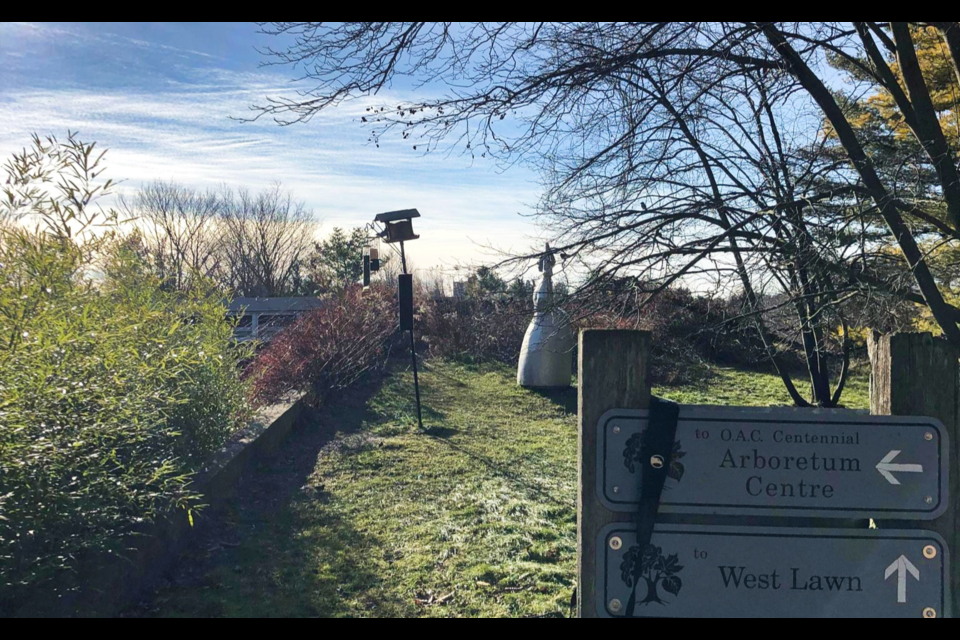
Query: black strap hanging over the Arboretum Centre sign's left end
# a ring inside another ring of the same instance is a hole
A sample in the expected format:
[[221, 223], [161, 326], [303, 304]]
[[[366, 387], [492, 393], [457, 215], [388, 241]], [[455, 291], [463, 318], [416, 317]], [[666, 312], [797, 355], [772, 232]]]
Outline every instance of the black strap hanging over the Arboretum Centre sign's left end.
[[[642, 554], [653, 538], [660, 510], [660, 496], [670, 474], [680, 405], [661, 398], [650, 399], [650, 420], [640, 444], [640, 508], [637, 510], [637, 546]], [[625, 612], [633, 617], [633, 611]]]

